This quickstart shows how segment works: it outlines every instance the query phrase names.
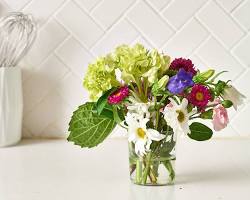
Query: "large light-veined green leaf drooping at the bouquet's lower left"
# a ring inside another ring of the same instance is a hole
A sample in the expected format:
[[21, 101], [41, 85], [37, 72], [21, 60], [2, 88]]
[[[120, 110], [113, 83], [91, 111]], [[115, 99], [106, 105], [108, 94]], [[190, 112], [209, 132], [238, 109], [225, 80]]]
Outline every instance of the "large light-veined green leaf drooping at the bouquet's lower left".
[[115, 125], [114, 120], [97, 114], [95, 103], [87, 102], [73, 113], [67, 139], [81, 147], [95, 147], [107, 138]]

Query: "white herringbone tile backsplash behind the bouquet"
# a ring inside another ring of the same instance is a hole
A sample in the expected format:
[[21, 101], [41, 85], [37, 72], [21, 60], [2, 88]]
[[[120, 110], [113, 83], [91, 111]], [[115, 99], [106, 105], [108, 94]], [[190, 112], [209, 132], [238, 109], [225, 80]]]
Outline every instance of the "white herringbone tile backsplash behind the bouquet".
[[[24, 135], [66, 136], [72, 111], [88, 99], [82, 87], [88, 63], [122, 43], [188, 57], [203, 70], [228, 70], [223, 77], [249, 97], [249, 9], [250, 0], [0, 0], [0, 16], [23, 10], [39, 25], [21, 64]], [[250, 137], [249, 113], [248, 99], [215, 136]]]

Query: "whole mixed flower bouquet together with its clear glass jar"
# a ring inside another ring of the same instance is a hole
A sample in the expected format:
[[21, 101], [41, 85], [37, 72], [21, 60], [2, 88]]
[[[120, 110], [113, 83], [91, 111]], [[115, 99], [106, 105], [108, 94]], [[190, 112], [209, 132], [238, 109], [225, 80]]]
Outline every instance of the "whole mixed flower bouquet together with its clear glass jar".
[[197, 119], [211, 120], [220, 131], [244, 96], [225, 71], [200, 72], [189, 59], [122, 45], [88, 66], [84, 86], [91, 102], [81, 105], [69, 124], [68, 141], [95, 147], [116, 125], [127, 130], [130, 177], [140, 185], [172, 184], [177, 135], [204, 141], [213, 131]]

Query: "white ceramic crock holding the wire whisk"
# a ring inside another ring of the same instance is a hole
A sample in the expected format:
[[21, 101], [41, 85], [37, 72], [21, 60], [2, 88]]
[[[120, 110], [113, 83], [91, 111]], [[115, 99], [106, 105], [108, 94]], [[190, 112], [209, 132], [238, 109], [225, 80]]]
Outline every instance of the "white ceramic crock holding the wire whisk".
[[0, 147], [18, 143], [22, 135], [23, 95], [19, 67], [0, 67]]

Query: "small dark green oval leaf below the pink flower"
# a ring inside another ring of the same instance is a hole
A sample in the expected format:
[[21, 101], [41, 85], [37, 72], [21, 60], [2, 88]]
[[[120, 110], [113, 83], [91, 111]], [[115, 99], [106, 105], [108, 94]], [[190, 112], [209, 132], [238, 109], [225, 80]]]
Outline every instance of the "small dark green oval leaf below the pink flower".
[[190, 130], [191, 133], [188, 136], [197, 141], [209, 140], [213, 135], [213, 131], [210, 128], [199, 122], [192, 123]]

